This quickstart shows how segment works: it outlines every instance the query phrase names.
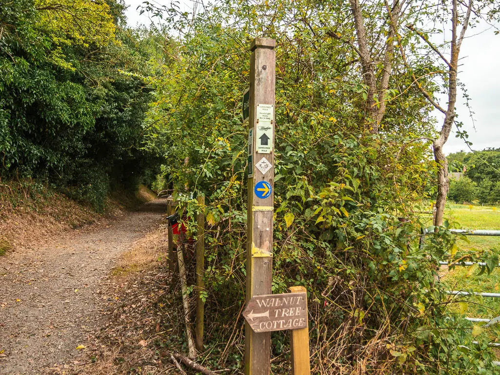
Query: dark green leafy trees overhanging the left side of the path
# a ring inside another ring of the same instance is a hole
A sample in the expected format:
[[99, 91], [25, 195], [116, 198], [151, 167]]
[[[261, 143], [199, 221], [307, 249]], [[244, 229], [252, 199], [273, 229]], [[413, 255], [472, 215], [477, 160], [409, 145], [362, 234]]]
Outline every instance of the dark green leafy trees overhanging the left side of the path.
[[35, 177], [102, 209], [112, 185], [150, 182], [154, 48], [115, 0], [0, 1], [0, 177]]

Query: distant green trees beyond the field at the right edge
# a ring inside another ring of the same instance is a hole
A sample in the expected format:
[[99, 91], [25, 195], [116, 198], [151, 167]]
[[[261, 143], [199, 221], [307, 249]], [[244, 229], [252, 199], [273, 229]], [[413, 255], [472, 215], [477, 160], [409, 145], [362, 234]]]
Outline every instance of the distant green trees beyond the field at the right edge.
[[477, 152], [459, 151], [448, 156], [450, 172], [464, 173], [451, 178], [448, 198], [455, 202], [496, 204], [500, 202], [500, 148]]

